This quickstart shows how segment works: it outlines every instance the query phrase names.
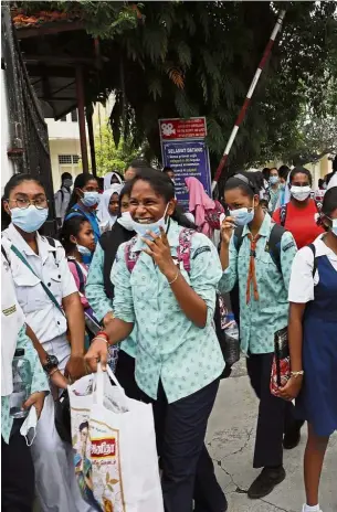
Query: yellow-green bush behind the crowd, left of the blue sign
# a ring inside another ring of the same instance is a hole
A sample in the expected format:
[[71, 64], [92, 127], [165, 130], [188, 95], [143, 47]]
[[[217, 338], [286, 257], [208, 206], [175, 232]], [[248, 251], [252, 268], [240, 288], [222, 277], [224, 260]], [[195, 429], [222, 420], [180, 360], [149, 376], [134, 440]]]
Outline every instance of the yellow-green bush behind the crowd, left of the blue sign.
[[128, 141], [120, 140], [116, 147], [110, 127], [104, 126], [95, 137], [97, 174], [104, 177], [110, 171], [124, 173], [129, 162], [139, 158]]

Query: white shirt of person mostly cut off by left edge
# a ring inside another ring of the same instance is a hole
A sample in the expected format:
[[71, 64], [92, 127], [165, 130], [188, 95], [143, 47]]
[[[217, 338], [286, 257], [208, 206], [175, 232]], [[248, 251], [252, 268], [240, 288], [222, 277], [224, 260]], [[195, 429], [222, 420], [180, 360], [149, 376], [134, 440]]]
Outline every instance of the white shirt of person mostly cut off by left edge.
[[1, 396], [13, 392], [12, 361], [23, 324], [9, 264], [1, 254]]

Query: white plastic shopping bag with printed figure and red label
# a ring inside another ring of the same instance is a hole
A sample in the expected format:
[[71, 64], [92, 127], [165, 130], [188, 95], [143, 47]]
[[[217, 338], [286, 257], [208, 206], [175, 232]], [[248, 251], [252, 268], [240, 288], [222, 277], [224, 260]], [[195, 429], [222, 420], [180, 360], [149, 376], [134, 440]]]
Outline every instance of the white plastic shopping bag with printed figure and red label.
[[69, 386], [69, 395], [83, 498], [104, 512], [164, 512], [151, 405], [128, 398], [99, 365]]

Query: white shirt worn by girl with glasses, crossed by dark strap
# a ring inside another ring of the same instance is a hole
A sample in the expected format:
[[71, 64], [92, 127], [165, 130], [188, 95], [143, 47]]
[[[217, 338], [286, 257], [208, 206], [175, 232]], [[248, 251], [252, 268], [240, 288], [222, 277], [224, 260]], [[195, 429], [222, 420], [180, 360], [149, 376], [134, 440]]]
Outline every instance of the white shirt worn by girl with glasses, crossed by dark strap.
[[[55, 241], [55, 247], [52, 247], [39, 233], [36, 239], [39, 254], [25, 243], [13, 224], [2, 233], [2, 245], [10, 259], [19, 305], [27, 323], [35, 332], [39, 341], [44, 343], [64, 335], [67, 324], [64, 314], [44, 291], [41, 280], [49, 287], [60, 306], [63, 298], [77, 294], [78, 290], [60, 242]], [[11, 245], [20, 250], [39, 277], [11, 250]]]

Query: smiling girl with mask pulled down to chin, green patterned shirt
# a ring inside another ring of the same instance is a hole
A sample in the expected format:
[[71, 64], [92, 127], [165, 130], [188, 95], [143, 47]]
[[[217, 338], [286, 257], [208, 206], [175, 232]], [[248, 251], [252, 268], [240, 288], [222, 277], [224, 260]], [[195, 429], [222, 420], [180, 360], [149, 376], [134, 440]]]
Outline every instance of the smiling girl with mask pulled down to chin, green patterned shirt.
[[94, 371], [97, 359], [104, 365], [108, 344], [125, 340], [136, 324], [135, 377], [144, 399], [154, 404], [165, 510], [190, 512], [194, 500], [194, 511], [224, 512], [227, 500], [204, 446], [224, 369], [212, 327], [221, 265], [207, 236], [179, 225], [176, 203], [166, 174], [141, 169], [134, 179], [129, 212], [137, 237], [117, 252], [115, 318], [86, 359]]

